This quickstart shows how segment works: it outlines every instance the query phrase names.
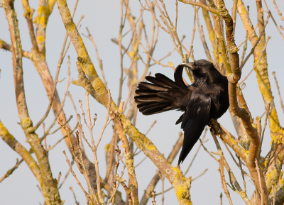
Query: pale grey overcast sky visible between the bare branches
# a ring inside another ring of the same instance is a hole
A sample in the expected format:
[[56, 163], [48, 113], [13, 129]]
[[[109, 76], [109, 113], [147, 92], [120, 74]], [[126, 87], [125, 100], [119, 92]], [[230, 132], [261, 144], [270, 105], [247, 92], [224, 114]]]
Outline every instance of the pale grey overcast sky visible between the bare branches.
[[[143, 1], [142, 1], [143, 2]], [[278, 26], [283, 25], [283, 21], [280, 21], [280, 17], [278, 13], [275, 11], [275, 8], [271, 2], [267, 2], [269, 9], [271, 9], [273, 13], [273, 17], [278, 23]], [[38, 3], [35, 1], [30, 1], [31, 8], [35, 9], [36, 15]], [[70, 10], [73, 9], [75, 1], [67, 1]], [[231, 13], [231, 4], [232, 1], [226, 1], [226, 7]], [[254, 1], [247, 1], [246, 5], [250, 6], [250, 16], [251, 21], [253, 22], [253, 26], [256, 25], [256, 6]], [[165, 5], [168, 8], [168, 13], [172, 19], [175, 18], [175, 1], [165, 1]], [[187, 47], [187, 50], [190, 48], [190, 40], [192, 37], [192, 26], [193, 26], [193, 9], [192, 6], [179, 3], [178, 4], [179, 13], [178, 13], [178, 35], [180, 37], [182, 35], [186, 35], [184, 45]], [[280, 9], [284, 8], [283, 1], [278, 2], [278, 6]], [[31, 40], [28, 35], [28, 27], [26, 23], [26, 19], [23, 18], [23, 6], [20, 1], [16, 1], [15, 3], [16, 12], [18, 13], [18, 23], [20, 28], [21, 35], [21, 43], [23, 50], [31, 50]], [[133, 16], [138, 17], [140, 15], [140, 4], [137, 0], [131, 1], [131, 12]], [[266, 10], [266, 9], [265, 9]], [[107, 79], [107, 85], [109, 89], [111, 89], [111, 96], [114, 101], [117, 101], [118, 92], [119, 92], [119, 48], [114, 43], [111, 43], [111, 38], [118, 38], [119, 36], [119, 23], [120, 23], [120, 1], [80, 1], [77, 6], [77, 11], [75, 13], [75, 23], [77, 23], [82, 15], [84, 18], [81, 22], [80, 33], [87, 34], [86, 27], [89, 28], [89, 31], [92, 33], [94, 37], [95, 43], [97, 43], [97, 48], [99, 50], [99, 55], [102, 58], [104, 71]], [[284, 12], [284, 10], [283, 10]], [[160, 16], [158, 13], [158, 9], [156, 11], [157, 16]], [[200, 15], [200, 24], [204, 26], [204, 33], [207, 38], [207, 43], [209, 44], [207, 31], [205, 29], [205, 24], [202, 17], [202, 11], [199, 11]], [[266, 19], [267, 13], [265, 13]], [[151, 32], [151, 16], [148, 11], [144, 11], [143, 13], [144, 21], [146, 22], [146, 30], [148, 33]], [[9, 27], [6, 21], [6, 16], [4, 13], [4, 9], [0, 8], [0, 38], [5, 40], [7, 43], [11, 43], [11, 39], [9, 36]], [[160, 19], [160, 18], [159, 18]], [[126, 23], [126, 27], [124, 28], [123, 33], [129, 31], [129, 24]], [[258, 29], [256, 30], [258, 33]], [[149, 34], [148, 34], [149, 35]], [[273, 96], [275, 99], [275, 105], [278, 111], [278, 117], [280, 120], [280, 125], [283, 125], [283, 111], [280, 108], [280, 101], [277, 93], [277, 89], [275, 87], [275, 81], [273, 79], [272, 72], [275, 71], [278, 77], [278, 83], [280, 86], [281, 94], [284, 96], [284, 82], [283, 82], [283, 65], [284, 65], [284, 57], [283, 57], [283, 45], [284, 41], [280, 37], [277, 29], [275, 28], [273, 21], [270, 19], [268, 26], [266, 28], [266, 36], [270, 35], [271, 40], [268, 42], [267, 52], [268, 52], [268, 74], [271, 80], [271, 88], [273, 91]], [[60, 55], [60, 50], [62, 48], [62, 42], [65, 36], [65, 28], [62, 23], [61, 16], [58, 12], [58, 7], [55, 4], [53, 9], [53, 13], [50, 16], [48, 27], [47, 27], [47, 39], [46, 39], [46, 60], [48, 62], [48, 67], [52, 76], [55, 76], [56, 66], [58, 63], [58, 58]], [[244, 32], [244, 28], [242, 28], [242, 22], [239, 16], [236, 19], [236, 45], [239, 45], [245, 38], [246, 33]], [[131, 35], [127, 35], [123, 40], [124, 45], [128, 45], [129, 39]], [[99, 77], [102, 77], [101, 72], [99, 72], [99, 66], [97, 62], [97, 56], [94, 51], [94, 47], [92, 43], [87, 38], [84, 38], [84, 43], [87, 47], [90, 57], [92, 58], [92, 62], [99, 73]], [[145, 43], [145, 41], [142, 41]], [[195, 42], [194, 46], [194, 55], [195, 59], [206, 58], [204, 55], [204, 50], [202, 48], [202, 44], [200, 42], [200, 36], [198, 31], [195, 33]], [[158, 60], [161, 57], [165, 56], [173, 50], [173, 43], [170, 40], [170, 36], [160, 29], [160, 33], [158, 36], [158, 45], [154, 52], [153, 57]], [[210, 46], [211, 49], [211, 46]], [[142, 50], [142, 48], [140, 48]], [[212, 50], [212, 49], [211, 49]], [[246, 53], [249, 53], [251, 50], [251, 44], [248, 43], [248, 50]], [[242, 48], [239, 51], [241, 55]], [[71, 61], [71, 77], [73, 79], [77, 79], [77, 70], [75, 66], [75, 62], [77, 59], [77, 55], [75, 53], [75, 49], [72, 44], [70, 45], [70, 49], [67, 53], [70, 55]], [[141, 56], [146, 59], [146, 54], [141, 52]], [[177, 66], [180, 62], [182, 62], [181, 57], [178, 55], [178, 52], [174, 52], [170, 57], [163, 60], [162, 63], [167, 64], [167, 62], [173, 62], [175, 66]], [[14, 94], [14, 83], [13, 83], [13, 67], [12, 67], [12, 55], [11, 52], [6, 52], [4, 50], [0, 50], [0, 69], [1, 69], [1, 78], [0, 78], [0, 120], [4, 123], [4, 126], [9, 130], [9, 132], [27, 149], [29, 149], [28, 143], [26, 143], [26, 137], [21, 129], [21, 126], [18, 125], [18, 111], [16, 107], [16, 99]], [[124, 67], [128, 68], [131, 65], [131, 61], [126, 57], [124, 61]], [[251, 68], [253, 67], [253, 57], [250, 58], [249, 62], [246, 63], [241, 79], [244, 79], [246, 74], [249, 73]], [[139, 70], [140, 69], [140, 70]], [[163, 73], [173, 79], [173, 70], [169, 67], [161, 67], [159, 65], [155, 65], [151, 67], [151, 73], [154, 74], [156, 72]], [[138, 76], [141, 77], [143, 74], [143, 64], [139, 62], [138, 64]], [[35, 67], [32, 62], [26, 58], [23, 58], [23, 77], [24, 77], [24, 85], [26, 91], [26, 101], [28, 104], [28, 112], [30, 114], [31, 119], [33, 120], [33, 124], [35, 125], [40, 118], [44, 115], [46, 109], [48, 108], [48, 97], [46, 95], [43, 84], [40, 80], [39, 74], [36, 72]], [[58, 92], [60, 94], [60, 99], [62, 99], [62, 95], [65, 91], [65, 84], [67, 80], [67, 58], [65, 58], [62, 63], [62, 68], [60, 70], [59, 79], [64, 79], [64, 81], [58, 84]], [[184, 75], [187, 82], [190, 82], [189, 79]], [[83, 105], [85, 106], [85, 97], [84, 97], [84, 89], [81, 87], [77, 87], [75, 85], [70, 86], [70, 93], [75, 101], [77, 106], [77, 110], [80, 111], [80, 104], [78, 101], [81, 99], [83, 101]], [[122, 98], [126, 101], [128, 95], [128, 87], [127, 84], [124, 84], [124, 91], [122, 94]], [[256, 74], [253, 72], [248, 79], [246, 79], [246, 87], [244, 89], [244, 96], [246, 98], [247, 104], [249, 105], [249, 109], [253, 118], [256, 116], [261, 116], [264, 109], [263, 100], [261, 94], [258, 90], [258, 85], [256, 81]], [[86, 107], [86, 106], [85, 106]], [[97, 103], [94, 99], [90, 99], [90, 109], [92, 114], [97, 113], [97, 123], [94, 127], [94, 135], [98, 138], [99, 134], [102, 131], [102, 127], [104, 124], [104, 119], [106, 117], [107, 111], [104, 109], [104, 106]], [[71, 127], [75, 126], [75, 111], [72, 107], [70, 99], [66, 100], [64, 111], [66, 113], [67, 118], [73, 115], [74, 118], [70, 122]], [[168, 156], [170, 150], [173, 148], [173, 144], [178, 139], [178, 133], [181, 131], [180, 126], [175, 126], [175, 121], [180, 116], [180, 112], [178, 111], [170, 111], [166, 113], [160, 113], [154, 116], [142, 116], [141, 113], [138, 113], [136, 127], [142, 133], [146, 133], [148, 128], [151, 126], [153, 121], [157, 120], [157, 123], [152, 128], [150, 133], [148, 133], [147, 137], [150, 138], [153, 143], [156, 145], [158, 150], [165, 155]], [[50, 123], [53, 121], [54, 116], [53, 113], [50, 112], [47, 120], [45, 121], [45, 126], [48, 127]], [[229, 112], [226, 112], [222, 118], [219, 119], [219, 122], [233, 135], [236, 136], [236, 131], [234, 130], [234, 126], [231, 122], [231, 117]], [[264, 119], [262, 121], [264, 123]], [[57, 125], [55, 125], [57, 128]], [[85, 130], [87, 133], [87, 129]], [[36, 131], [39, 137], [43, 135], [43, 128], [38, 128]], [[48, 145], [54, 145], [62, 135], [60, 132], [55, 133], [47, 138]], [[105, 160], [104, 160], [104, 145], [109, 143], [112, 138], [112, 128], [111, 124], [107, 128], [102, 138], [102, 142], [99, 146], [99, 169], [102, 177], [104, 177], [105, 172]], [[210, 133], [207, 133], [206, 138], [208, 142], [205, 143], [206, 147], [210, 151], [216, 151], [216, 147], [214, 145], [214, 141], [212, 140], [212, 136]], [[185, 172], [188, 165], [190, 164], [192, 157], [195, 155], [198, 144], [192, 149], [190, 155], [187, 156], [185, 162], [181, 165], [181, 169]], [[224, 147], [224, 146], [223, 146]], [[222, 148], [223, 148], [222, 147]], [[269, 130], [266, 129], [263, 153], [267, 153], [270, 147], [270, 135]], [[86, 146], [85, 146], [86, 148]], [[49, 153], [50, 158], [50, 167], [53, 171], [53, 177], [57, 178], [58, 173], [62, 172], [62, 179], [68, 171], [68, 165], [65, 162], [65, 156], [62, 154], [62, 150], [67, 150], [67, 146], [64, 142], [57, 145], [52, 151]], [[226, 153], [224, 148], [226, 159], [229, 161], [229, 165], [235, 168], [234, 162], [231, 162], [229, 154]], [[7, 170], [11, 169], [16, 164], [16, 158], [21, 159], [17, 153], [15, 153], [11, 148], [9, 148], [3, 140], [0, 140], [0, 177], [3, 176]], [[68, 157], [71, 159], [71, 155], [67, 152]], [[91, 150], [87, 150], [87, 155], [89, 159], [92, 161], [92, 153]], [[33, 155], [34, 156], [34, 155]], [[137, 165], [144, 158], [143, 153], [138, 155], [135, 158], [134, 165]], [[173, 162], [173, 165], [176, 165], [178, 160], [176, 159]], [[215, 162], [212, 157], [210, 157], [204, 150], [200, 150], [198, 153], [195, 162], [193, 163], [190, 172], [186, 177], [192, 176], [192, 178], [197, 177], [200, 173], [202, 173], [205, 169], [209, 169], [206, 174], [200, 179], [192, 182], [192, 188], [190, 189], [190, 194], [192, 196], [193, 204], [219, 204], [219, 194], [224, 192], [222, 190], [220, 180], [219, 180], [219, 172], [217, 169], [219, 165]], [[85, 183], [83, 177], [80, 172], [77, 170], [77, 167], [74, 166], [74, 170], [77, 173], [77, 177], [79, 177], [85, 189], [87, 189], [87, 184]], [[119, 172], [122, 170], [122, 165], [119, 167]], [[143, 190], [146, 189], [148, 183], [152, 179], [153, 175], [156, 172], [156, 167], [153, 165], [151, 160], [146, 159], [139, 167], [136, 168], [136, 176], [138, 178], [138, 193], [139, 199], [143, 196]], [[236, 169], [234, 169], [236, 170]], [[127, 173], [127, 172], [126, 172]], [[241, 174], [239, 170], [236, 170], [234, 173], [239, 180], [239, 184], [242, 184]], [[127, 174], [124, 174], [124, 177], [127, 178]], [[62, 180], [61, 179], [61, 180]], [[229, 181], [229, 178], [226, 178]], [[38, 184], [37, 180], [28, 169], [25, 162], [22, 163], [18, 169], [13, 172], [13, 174], [5, 179], [0, 184], [0, 204], [43, 204], [43, 196], [40, 194], [36, 185]], [[85, 196], [80, 187], [75, 182], [74, 177], [69, 176], [65, 184], [63, 184], [60, 189], [60, 196], [62, 200], [65, 200], [65, 204], [75, 204], [72, 193], [69, 190], [69, 187], [72, 186], [75, 190], [77, 201], [80, 201], [81, 204], [85, 202]], [[169, 182], [165, 179], [165, 189], [170, 187]], [[251, 187], [250, 182], [247, 182], [247, 187]], [[155, 188], [156, 193], [160, 192], [161, 183], [157, 185]], [[120, 189], [121, 192], [124, 190]], [[240, 196], [235, 194], [233, 191], [229, 190], [231, 193], [231, 197], [233, 199], [234, 204], [244, 204], [244, 201], [241, 200]], [[253, 189], [248, 190], [248, 196], [251, 196]], [[205, 197], [204, 197], [205, 196]], [[157, 196], [156, 201], [160, 204], [160, 196]], [[125, 200], [125, 194], [124, 194]], [[214, 201], [212, 203], [212, 201]], [[151, 200], [149, 200], [148, 204], [151, 204]], [[172, 190], [165, 195], [165, 205], [168, 204], [178, 204], [178, 201], [175, 196], [175, 192]], [[226, 196], [223, 197], [223, 204], [229, 204]]]

